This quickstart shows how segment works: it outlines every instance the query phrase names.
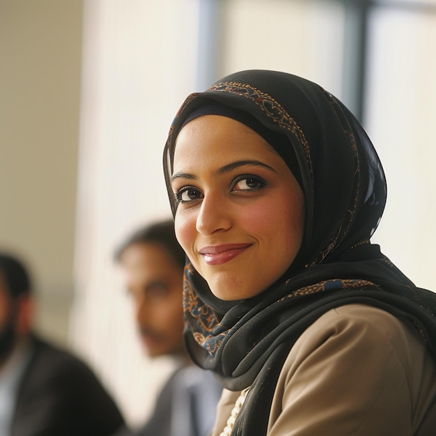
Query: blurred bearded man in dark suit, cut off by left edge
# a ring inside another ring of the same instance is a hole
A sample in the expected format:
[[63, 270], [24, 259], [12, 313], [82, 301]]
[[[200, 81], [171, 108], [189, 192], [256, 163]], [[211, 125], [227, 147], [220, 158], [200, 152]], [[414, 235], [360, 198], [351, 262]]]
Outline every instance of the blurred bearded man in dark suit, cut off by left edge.
[[104, 436], [122, 425], [91, 369], [33, 332], [29, 272], [0, 253], [0, 436]]

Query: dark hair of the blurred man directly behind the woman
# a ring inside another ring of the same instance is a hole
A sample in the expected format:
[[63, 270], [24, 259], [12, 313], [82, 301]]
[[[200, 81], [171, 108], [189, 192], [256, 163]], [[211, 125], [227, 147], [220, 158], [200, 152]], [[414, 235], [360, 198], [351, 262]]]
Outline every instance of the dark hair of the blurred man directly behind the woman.
[[139, 228], [115, 251], [115, 260], [120, 261], [123, 252], [133, 244], [153, 242], [159, 244], [173, 258], [180, 268], [185, 267], [185, 251], [180, 247], [174, 233], [174, 221], [159, 221]]

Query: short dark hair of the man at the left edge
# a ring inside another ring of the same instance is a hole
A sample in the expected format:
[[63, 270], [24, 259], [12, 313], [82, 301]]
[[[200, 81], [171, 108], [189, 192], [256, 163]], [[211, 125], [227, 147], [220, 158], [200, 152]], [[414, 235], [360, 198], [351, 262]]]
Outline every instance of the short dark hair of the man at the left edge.
[[17, 299], [20, 295], [31, 292], [31, 279], [24, 264], [10, 254], [0, 253], [0, 271], [8, 287], [10, 297]]

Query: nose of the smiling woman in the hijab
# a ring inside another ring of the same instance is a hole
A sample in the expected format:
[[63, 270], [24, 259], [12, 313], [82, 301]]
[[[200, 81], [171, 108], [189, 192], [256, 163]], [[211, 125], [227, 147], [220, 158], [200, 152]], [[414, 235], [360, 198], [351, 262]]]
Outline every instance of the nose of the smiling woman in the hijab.
[[205, 194], [196, 217], [196, 230], [202, 235], [211, 235], [231, 227], [231, 210], [222, 196]]

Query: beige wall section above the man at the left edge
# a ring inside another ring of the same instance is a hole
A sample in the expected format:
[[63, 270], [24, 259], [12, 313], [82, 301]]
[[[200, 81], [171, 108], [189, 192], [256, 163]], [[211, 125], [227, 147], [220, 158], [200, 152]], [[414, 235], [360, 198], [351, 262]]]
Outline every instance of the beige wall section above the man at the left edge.
[[38, 328], [64, 341], [73, 288], [82, 2], [0, 0], [0, 249], [31, 265]]

